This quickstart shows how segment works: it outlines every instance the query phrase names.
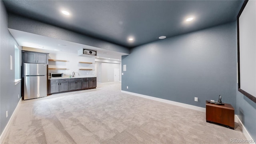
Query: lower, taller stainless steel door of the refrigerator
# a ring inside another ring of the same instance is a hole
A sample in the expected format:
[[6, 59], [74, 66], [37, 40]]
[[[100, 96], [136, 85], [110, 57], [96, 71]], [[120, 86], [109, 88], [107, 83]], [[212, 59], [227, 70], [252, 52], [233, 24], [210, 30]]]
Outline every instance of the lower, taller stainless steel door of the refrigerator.
[[46, 76], [24, 76], [24, 100], [47, 96]]

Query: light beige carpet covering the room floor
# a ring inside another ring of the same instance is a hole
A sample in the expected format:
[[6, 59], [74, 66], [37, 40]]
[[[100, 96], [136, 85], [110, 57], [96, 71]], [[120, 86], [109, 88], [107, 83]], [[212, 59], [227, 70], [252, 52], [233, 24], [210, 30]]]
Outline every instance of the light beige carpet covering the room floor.
[[4, 144], [228, 144], [246, 139], [205, 113], [121, 93], [121, 84], [24, 100]]

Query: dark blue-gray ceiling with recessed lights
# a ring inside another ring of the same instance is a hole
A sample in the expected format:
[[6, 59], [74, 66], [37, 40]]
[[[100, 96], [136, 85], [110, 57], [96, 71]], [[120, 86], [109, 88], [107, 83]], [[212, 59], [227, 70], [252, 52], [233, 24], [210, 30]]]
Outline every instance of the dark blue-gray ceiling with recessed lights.
[[[4, 0], [8, 12], [132, 48], [232, 22], [242, 0]], [[60, 10], [70, 12], [64, 16]], [[193, 16], [194, 20], [186, 22]], [[132, 36], [133, 42], [128, 38]]]

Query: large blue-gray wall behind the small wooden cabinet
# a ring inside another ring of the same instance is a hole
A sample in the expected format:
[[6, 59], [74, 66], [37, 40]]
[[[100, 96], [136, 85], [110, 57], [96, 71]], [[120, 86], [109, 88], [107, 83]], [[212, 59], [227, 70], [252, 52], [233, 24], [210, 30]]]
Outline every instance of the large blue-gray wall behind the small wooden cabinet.
[[203, 108], [221, 94], [235, 108], [236, 22], [133, 48], [122, 72], [124, 91]]

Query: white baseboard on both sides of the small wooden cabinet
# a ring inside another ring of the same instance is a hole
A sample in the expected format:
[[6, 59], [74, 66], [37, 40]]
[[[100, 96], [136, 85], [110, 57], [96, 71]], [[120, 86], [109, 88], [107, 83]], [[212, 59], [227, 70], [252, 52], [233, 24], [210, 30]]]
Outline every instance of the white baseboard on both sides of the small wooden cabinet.
[[[147, 98], [147, 99], [150, 99], [150, 100], [156, 100], [158, 102], [164, 102], [164, 103], [167, 103], [167, 104], [173, 104], [173, 105], [181, 106], [181, 107], [184, 107], [184, 108], [190, 108], [190, 109], [193, 109], [193, 110], [198, 110], [200, 112], [206, 112], [205, 108], [198, 107], [198, 106], [193, 106], [193, 105], [190, 105], [190, 104], [183, 104], [183, 103], [180, 103], [180, 102], [174, 102], [174, 101], [165, 100], [165, 99], [162, 99], [162, 98], [156, 98], [156, 97], [152, 97], [152, 96], [146, 96], [146, 95], [143, 95], [143, 94], [127, 92], [127, 91], [124, 91], [124, 90], [121, 90], [121, 92], [126, 93], [126, 94], [131, 94], [131, 95], [134, 95], [134, 96], [139, 96], [139, 97], [142, 97], [142, 98]], [[252, 140], [252, 137], [250, 136], [249, 132], [246, 130], [246, 128], [244, 127], [244, 125], [242, 124], [242, 122], [240, 121], [240, 119], [238, 118], [237, 115], [235, 115], [235, 122], [237, 122], [238, 125], [242, 128], [242, 132], [244, 133], [244, 136], [247, 138], [247, 140]], [[250, 143], [250, 144], [255, 144], [255, 142]]]

